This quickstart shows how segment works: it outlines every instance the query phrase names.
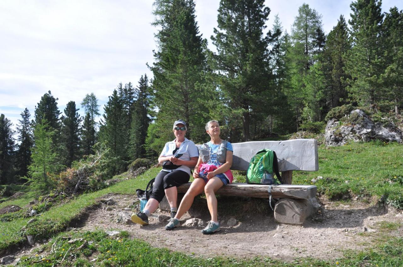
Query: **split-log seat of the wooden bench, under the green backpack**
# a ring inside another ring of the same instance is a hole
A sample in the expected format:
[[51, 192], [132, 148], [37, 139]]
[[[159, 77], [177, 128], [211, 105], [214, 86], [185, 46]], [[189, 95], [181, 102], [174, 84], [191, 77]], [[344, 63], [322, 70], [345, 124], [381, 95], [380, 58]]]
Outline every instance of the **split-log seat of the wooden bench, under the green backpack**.
[[[186, 193], [191, 183], [185, 183], [178, 187], [178, 193]], [[268, 198], [268, 185], [248, 185], [247, 183], [233, 183], [218, 189], [216, 194], [238, 197]], [[316, 196], [315, 185], [273, 185], [272, 197], [310, 199]]]

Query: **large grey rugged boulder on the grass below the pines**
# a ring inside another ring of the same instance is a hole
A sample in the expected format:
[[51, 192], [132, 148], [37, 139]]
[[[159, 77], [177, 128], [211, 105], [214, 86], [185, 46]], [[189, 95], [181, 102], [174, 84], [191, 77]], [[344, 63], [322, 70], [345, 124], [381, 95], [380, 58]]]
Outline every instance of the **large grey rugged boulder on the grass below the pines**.
[[374, 123], [364, 111], [356, 109], [343, 121], [330, 119], [325, 129], [326, 146], [342, 146], [350, 141], [403, 142], [402, 132], [394, 125]]

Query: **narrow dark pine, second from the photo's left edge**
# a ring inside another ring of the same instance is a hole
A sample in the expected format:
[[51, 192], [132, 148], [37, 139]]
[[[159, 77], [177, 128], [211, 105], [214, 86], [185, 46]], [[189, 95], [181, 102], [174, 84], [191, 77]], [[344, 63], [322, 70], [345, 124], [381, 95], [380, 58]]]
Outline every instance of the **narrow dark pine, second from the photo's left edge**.
[[21, 112], [21, 119], [17, 125], [18, 150], [16, 154], [16, 166], [20, 177], [27, 176], [28, 166], [31, 164], [31, 149], [33, 146], [33, 132], [30, 121], [31, 114], [27, 108]]

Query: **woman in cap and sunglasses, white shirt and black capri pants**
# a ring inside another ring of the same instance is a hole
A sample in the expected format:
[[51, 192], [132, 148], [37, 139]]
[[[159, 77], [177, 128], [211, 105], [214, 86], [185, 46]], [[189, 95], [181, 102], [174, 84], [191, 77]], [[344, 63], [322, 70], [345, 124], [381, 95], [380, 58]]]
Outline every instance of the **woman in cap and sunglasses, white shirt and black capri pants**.
[[[170, 166], [163, 164], [163, 168], [155, 178], [153, 191], [142, 212], [132, 214], [131, 220], [137, 224], [147, 225], [148, 216], [152, 214], [161, 202], [164, 195], [171, 207], [171, 218], [177, 213], [177, 186], [189, 182], [190, 168], [196, 165], [199, 152], [195, 143], [185, 138], [185, 121], [174, 122], [173, 131], [175, 140], [165, 144], [158, 163], [172, 163]], [[176, 156], [176, 157], [175, 157]], [[166, 167], [164, 167], [166, 166]]]

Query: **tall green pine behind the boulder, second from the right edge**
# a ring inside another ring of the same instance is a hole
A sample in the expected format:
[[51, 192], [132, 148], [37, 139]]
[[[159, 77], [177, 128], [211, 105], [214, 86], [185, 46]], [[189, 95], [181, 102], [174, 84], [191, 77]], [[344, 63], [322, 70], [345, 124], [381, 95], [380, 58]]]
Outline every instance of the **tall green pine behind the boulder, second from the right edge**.
[[384, 95], [380, 75], [383, 72], [381, 1], [357, 0], [350, 4], [353, 48], [347, 55], [347, 71], [351, 75], [351, 97], [360, 105], [378, 111]]

